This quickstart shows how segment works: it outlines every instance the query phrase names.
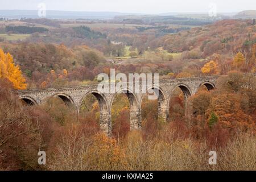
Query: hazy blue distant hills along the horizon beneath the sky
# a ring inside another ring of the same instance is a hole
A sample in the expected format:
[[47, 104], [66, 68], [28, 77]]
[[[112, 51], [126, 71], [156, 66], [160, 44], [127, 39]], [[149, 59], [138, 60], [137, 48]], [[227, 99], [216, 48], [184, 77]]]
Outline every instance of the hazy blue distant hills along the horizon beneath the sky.
[[[0, 10], [0, 18], [19, 19], [19, 18], [42, 18], [38, 16], [38, 10]], [[188, 20], [207, 20], [208, 23], [212, 23], [215, 20], [221, 19], [251, 19], [256, 18], [256, 10], [245, 10], [237, 14], [221, 13], [216, 17], [211, 18], [207, 13], [162, 13], [162, 14], [140, 14], [140, 13], [119, 13], [119, 12], [101, 12], [101, 11], [58, 11], [47, 10], [46, 18], [49, 19], [113, 19], [113, 18], [126, 18], [126, 19], [143, 19], [150, 22], [158, 23], [159, 19], [166, 19], [170, 22], [170, 19], [187, 18]], [[169, 20], [168, 20], [169, 19]], [[184, 19], [180, 19], [181, 21]], [[162, 20], [161, 20], [162, 21]], [[173, 23], [173, 22], [171, 22]]]

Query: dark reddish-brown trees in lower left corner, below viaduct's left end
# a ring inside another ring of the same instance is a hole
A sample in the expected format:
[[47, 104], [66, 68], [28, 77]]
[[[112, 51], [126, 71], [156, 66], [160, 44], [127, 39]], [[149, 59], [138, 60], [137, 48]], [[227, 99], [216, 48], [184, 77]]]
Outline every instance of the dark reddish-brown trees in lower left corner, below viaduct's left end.
[[12, 92], [12, 83], [0, 79], [0, 169], [44, 169], [37, 153], [47, 150], [53, 128], [49, 115], [37, 107], [26, 107]]

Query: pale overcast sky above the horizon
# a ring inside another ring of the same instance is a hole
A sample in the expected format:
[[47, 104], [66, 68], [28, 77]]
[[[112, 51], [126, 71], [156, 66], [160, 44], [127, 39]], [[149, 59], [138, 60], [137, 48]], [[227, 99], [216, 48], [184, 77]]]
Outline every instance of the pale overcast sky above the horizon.
[[41, 2], [47, 10], [121, 13], [207, 13], [210, 3], [216, 4], [219, 13], [256, 10], [256, 0], [0, 0], [0, 9], [36, 10]]

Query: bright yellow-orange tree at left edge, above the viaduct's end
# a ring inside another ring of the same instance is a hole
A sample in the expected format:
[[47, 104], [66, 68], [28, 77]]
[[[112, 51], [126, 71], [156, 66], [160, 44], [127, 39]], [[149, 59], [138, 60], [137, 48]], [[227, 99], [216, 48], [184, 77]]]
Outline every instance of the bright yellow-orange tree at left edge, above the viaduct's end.
[[15, 65], [13, 56], [0, 49], [0, 78], [7, 78], [15, 89], [26, 89], [26, 79], [22, 76], [19, 65]]

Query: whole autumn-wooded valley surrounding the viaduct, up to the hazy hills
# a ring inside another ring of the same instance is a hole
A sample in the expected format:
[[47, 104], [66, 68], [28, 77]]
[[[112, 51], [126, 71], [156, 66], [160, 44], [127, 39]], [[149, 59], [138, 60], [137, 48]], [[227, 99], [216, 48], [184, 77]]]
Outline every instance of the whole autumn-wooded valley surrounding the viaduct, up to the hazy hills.
[[[187, 20], [0, 24], [0, 170], [255, 170], [256, 78], [243, 74], [256, 72], [255, 21]], [[188, 100], [176, 88], [165, 123], [158, 101], [145, 96], [141, 131], [130, 131], [129, 100], [117, 94], [112, 137], [100, 131], [93, 94], [76, 118], [59, 98], [27, 106], [13, 92], [95, 84], [111, 68], [160, 78], [222, 76], [217, 89], [201, 86]], [[45, 166], [38, 165], [40, 150]], [[210, 150], [218, 153], [217, 166], [208, 164]]]

